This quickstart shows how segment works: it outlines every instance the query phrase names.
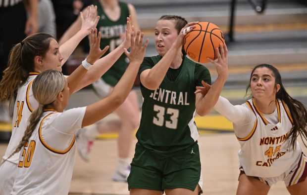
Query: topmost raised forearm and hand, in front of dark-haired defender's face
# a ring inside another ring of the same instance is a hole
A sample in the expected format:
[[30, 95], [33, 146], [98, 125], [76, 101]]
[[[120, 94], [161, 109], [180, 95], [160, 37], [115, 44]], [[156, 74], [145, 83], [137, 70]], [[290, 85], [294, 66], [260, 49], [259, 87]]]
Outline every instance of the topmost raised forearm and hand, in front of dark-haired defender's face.
[[[63, 43], [61, 41], [59, 51], [61, 52], [63, 56], [62, 65], [67, 61], [69, 56], [72, 54], [72, 52], [75, 50], [75, 48], [78, 46], [79, 42], [85, 38], [87, 35], [91, 33], [91, 29], [96, 28], [96, 25], [99, 21], [99, 16], [97, 15], [97, 6], [91, 5], [88, 6], [87, 9], [84, 12], [80, 12], [80, 20], [81, 20], [81, 29], [77, 28], [75, 26], [73, 30], [78, 29], [77, 32], [74, 32], [73, 36], [70, 39], [67, 39]], [[69, 28], [67, 31], [70, 31]]]

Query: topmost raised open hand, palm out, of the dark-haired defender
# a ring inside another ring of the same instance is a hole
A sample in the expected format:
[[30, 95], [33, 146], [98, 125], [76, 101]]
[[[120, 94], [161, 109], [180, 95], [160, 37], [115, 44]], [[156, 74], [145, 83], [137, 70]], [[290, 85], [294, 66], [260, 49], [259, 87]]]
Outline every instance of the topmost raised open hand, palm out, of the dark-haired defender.
[[100, 16], [97, 16], [97, 6], [90, 5], [83, 12], [80, 12], [82, 21], [81, 30], [91, 33], [91, 29], [95, 29]]

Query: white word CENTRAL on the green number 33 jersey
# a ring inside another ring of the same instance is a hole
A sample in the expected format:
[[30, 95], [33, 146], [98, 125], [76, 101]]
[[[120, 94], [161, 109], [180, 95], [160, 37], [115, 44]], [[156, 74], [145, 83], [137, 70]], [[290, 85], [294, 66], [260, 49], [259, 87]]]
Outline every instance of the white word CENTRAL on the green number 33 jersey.
[[[188, 92], [180, 91], [179, 94], [176, 91], [170, 91], [162, 88], [157, 88], [151, 93], [150, 97], [156, 101], [164, 102], [172, 105], [190, 105], [188, 101]], [[177, 98], [178, 97], [178, 98]]]

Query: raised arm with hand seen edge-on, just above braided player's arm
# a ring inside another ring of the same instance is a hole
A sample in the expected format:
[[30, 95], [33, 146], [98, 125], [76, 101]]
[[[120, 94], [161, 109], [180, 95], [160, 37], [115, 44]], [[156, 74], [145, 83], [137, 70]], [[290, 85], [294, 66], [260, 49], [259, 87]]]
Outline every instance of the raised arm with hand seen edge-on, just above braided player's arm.
[[130, 47], [131, 32], [134, 32], [134, 28], [133, 26], [131, 26], [130, 16], [129, 18], [127, 18], [126, 36], [124, 41], [109, 54], [94, 63], [93, 67], [87, 72], [87, 74], [78, 84], [75, 92], [101, 78], [102, 75], [107, 70], [109, 70], [111, 66], [113, 66], [113, 64], [118, 60], [118, 58], [124, 53], [125, 48], [128, 49]]

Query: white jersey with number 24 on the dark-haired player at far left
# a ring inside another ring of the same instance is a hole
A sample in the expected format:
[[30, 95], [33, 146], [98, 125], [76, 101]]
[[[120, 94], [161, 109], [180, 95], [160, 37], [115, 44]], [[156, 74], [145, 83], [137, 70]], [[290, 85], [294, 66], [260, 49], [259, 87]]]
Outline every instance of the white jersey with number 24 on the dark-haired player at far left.
[[[30, 73], [27, 81], [18, 88], [17, 97], [14, 105], [14, 114], [12, 122], [12, 135], [6, 148], [5, 154], [2, 157], [6, 159], [10, 156], [18, 146], [21, 138], [26, 130], [28, 119], [33, 110], [38, 106], [38, 102], [33, 97], [32, 83], [34, 78], [39, 73]], [[19, 153], [11, 156], [7, 161], [17, 164]]]

